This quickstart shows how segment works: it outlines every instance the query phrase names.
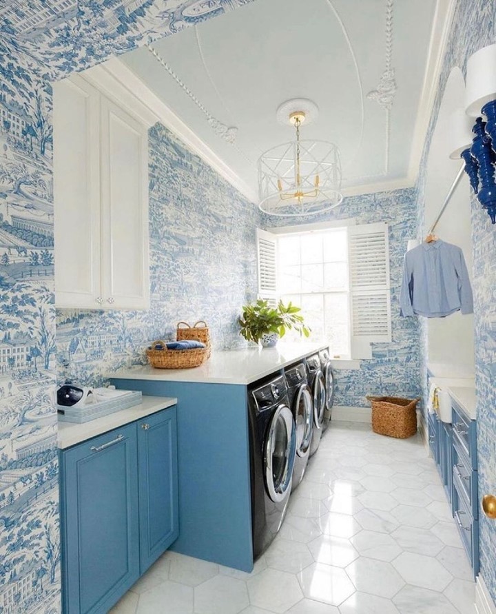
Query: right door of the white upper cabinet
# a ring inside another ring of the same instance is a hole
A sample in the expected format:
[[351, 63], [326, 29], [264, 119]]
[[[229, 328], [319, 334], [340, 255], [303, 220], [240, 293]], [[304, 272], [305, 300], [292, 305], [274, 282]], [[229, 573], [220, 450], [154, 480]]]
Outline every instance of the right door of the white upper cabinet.
[[105, 307], [149, 305], [146, 128], [101, 101], [101, 199]]

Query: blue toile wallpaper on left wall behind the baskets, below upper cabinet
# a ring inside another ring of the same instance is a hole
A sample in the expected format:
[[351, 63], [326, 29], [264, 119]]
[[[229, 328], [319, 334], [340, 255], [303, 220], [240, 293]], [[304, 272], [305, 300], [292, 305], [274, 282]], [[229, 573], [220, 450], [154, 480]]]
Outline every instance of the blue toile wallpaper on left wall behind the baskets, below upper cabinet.
[[147, 311], [56, 316], [58, 378], [103, 385], [104, 373], [146, 361], [176, 324], [205, 320], [214, 349], [245, 345], [240, 306], [256, 298], [258, 209], [157, 123], [149, 130], [151, 301]]

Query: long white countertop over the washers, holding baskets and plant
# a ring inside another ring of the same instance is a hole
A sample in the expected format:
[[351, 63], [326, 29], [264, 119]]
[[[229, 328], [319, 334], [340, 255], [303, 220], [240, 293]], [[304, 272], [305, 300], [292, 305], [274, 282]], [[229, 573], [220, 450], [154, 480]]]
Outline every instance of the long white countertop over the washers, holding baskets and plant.
[[154, 369], [145, 365], [106, 375], [112, 379], [125, 380], [247, 385], [327, 347], [318, 343], [279, 343], [277, 347], [215, 351], [207, 362], [194, 369]]

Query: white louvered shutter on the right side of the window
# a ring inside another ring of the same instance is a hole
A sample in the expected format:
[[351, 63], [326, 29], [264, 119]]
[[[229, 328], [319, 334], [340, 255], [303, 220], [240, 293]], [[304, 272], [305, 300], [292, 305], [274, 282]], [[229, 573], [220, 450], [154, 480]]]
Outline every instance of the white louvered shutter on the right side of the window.
[[371, 358], [371, 343], [391, 341], [386, 223], [348, 228], [351, 357]]

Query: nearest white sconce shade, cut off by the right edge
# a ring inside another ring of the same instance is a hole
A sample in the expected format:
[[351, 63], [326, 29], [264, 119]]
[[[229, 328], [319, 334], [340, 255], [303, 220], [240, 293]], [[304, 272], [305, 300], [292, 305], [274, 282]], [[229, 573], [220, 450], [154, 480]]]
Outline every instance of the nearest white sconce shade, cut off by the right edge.
[[496, 99], [496, 44], [479, 49], [467, 62], [466, 114], [479, 117], [482, 107]]

